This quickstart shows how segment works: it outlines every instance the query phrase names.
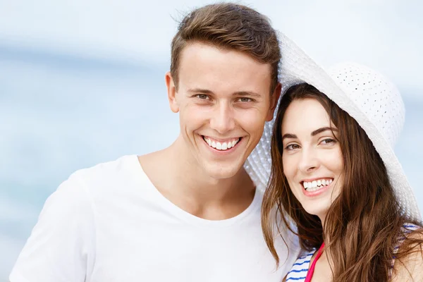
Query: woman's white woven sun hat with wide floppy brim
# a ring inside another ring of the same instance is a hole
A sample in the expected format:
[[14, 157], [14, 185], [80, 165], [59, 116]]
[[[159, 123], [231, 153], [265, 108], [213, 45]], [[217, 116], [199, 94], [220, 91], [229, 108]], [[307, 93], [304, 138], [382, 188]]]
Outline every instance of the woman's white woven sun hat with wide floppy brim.
[[[405, 117], [403, 99], [395, 85], [357, 63], [341, 63], [324, 70], [286, 35], [281, 34], [280, 40], [282, 94], [293, 85], [307, 82], [355, 118], [384, 161], [401, 209], [411, 219], [420, 220], [415, 195], [393, 151]], [[258, 187], [266, 187], [269, 180], [274, 120], [266, 123], [262, 139], [245, 162]]]

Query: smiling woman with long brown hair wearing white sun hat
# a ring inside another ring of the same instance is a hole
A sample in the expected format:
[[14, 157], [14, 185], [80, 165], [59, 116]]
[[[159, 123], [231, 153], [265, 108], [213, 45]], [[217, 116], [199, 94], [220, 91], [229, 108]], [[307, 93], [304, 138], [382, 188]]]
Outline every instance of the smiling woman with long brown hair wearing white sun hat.
[[271, 141], [264, 237], [278, 262], [276, 213], [305, 250], [285, 281], [423, 281], [420, 214], [392, 149], [404, 121], [399, 92], [357, 64], [326, 73], [281, 42], [283, 97], [246, 168], [265, 179], [259, 156]]

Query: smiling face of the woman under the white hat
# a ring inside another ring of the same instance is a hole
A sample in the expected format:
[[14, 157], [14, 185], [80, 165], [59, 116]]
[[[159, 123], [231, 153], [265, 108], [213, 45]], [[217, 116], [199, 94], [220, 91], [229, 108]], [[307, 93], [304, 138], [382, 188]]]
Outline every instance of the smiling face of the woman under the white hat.
[[282, 121], [283, 173], [305, 211], [319, 216], [322, 223], [343, 184], [337, 135], [338, 129], [316, 99], [297, 99], [286, 109]]

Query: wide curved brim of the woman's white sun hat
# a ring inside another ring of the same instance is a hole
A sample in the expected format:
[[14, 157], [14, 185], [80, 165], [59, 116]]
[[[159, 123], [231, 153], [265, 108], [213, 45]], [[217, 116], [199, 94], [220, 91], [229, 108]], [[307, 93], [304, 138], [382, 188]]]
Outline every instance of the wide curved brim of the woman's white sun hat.
[[[403, 212], [417, 221], [421, 220], [421, 214], [417, 206], [417, 200], [410, 183], [405, 176], [403, 167], [398, 161], [396, 154], [389, 142], [379, 132], [378, 128], [369, 121], [366, 115], [345, 94], [340, 87], [317, 63], [315, 63], [293, 40], [280, 34], [281, 39], [281, 83], [282, 94], [289, 87], [302, 82], [313, 85], [320, 92], [326, 94], [341, 109], [355, 118], [357, 123], [367, 133], [367, 136], [384, 161], [388, 171], [389, 180], [396, 192], [396, 197]], [[276, 116], [275, 111], [275, 116]], [[245, 162], [245, 170], [257, 184], [257, 187], [266, 187], [271, 170], [270, 141], [275, 118], [264, 125], [264, 133], [257, 147]]]

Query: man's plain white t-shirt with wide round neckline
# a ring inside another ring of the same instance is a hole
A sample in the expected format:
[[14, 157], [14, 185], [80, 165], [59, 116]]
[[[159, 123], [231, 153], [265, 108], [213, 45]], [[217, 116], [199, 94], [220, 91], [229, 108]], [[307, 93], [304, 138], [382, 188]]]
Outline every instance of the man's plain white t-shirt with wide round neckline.
[[44, 204], [10, 281], [281, 282], [298, 257], [298, 240], [284, 235], [289, 256], [276, 240], [276, 269], [261, 202], [256, 189], [244, 212], [209, 221], [161, 195], [135, 155], [82, 169]]

